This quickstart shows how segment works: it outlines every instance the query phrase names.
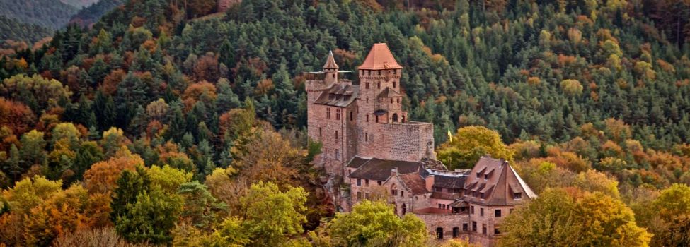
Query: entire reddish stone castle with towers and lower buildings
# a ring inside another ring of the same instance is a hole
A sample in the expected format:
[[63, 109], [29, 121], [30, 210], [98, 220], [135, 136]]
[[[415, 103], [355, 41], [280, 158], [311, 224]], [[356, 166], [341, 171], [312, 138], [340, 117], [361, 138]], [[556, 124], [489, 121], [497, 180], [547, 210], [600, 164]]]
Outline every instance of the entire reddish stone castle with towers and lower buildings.
[[403, 67], [386, 44], [374, 44], [357, 67], [359, 85], [344, 73], [331, 52], [305, 84], [309, 138], [322, 143], [318, 162], [349, 186], [338, 194], [342, 210], [383, 192], [397, 215], [415, 214], [439, 239], [493, 246], [502, 218], [536, 198], [505, 160], [487, 155], [454, 171], [435, 160], [434, 126], [408, 119]]

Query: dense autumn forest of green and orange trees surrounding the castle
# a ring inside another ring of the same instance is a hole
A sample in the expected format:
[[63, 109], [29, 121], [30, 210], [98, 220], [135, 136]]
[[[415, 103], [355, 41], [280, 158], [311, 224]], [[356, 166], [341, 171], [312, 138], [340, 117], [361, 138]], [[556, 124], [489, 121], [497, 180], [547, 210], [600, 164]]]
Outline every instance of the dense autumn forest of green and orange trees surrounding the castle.
[[[690, 243], [684, 1], [215, 8], [129, 0], [0, 59], [0, 243], [436, 244], [382, 203], [333, 217], [310, 164], [302, 73], [330, 49], [354, 70], [375, 42], [405, 67], [410, 119], [434, 123], [444, 164], [490, 152], [544, 195], [507, 219], [502, 244]], [[386, 224], [369, 227], [374, 217]]]

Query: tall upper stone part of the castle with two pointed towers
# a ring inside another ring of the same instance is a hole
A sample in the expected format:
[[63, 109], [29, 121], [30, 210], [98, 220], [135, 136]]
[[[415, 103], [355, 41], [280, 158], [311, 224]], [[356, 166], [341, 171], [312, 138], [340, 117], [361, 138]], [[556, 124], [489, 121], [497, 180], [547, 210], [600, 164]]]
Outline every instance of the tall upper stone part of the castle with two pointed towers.
[[[309, 138], [323, 144], [321, 156], [330, 176], [348, 176], [353, 157], [408, 162], [435, 159], [432, 123], [408, 120], [403, 110], [403, 67], [388, 45], [374, 44], [357, 68], [359, 85], [339, 78], [333, 53], [323, 71], [306, 74]], [[349, 182], [349, 179], [345, 179]]]

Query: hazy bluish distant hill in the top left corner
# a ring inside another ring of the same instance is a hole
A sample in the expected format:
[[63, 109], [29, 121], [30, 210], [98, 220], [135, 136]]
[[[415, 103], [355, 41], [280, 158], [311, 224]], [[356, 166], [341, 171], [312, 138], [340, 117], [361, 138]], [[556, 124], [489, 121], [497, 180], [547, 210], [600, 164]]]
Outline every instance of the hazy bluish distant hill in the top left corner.
[[46, 28], [62, 28], [79, 9], [55, 0], [3, 0], [0, 16]]

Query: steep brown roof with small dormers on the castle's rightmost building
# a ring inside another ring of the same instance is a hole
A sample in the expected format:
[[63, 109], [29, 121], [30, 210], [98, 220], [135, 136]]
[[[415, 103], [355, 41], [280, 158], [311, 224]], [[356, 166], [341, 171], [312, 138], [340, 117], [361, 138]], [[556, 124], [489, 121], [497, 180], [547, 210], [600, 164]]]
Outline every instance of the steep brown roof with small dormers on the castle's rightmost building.
[[[522, 198], [536, 198], [508, 162], [490, 157], [479, 159], [468, 174], [464, 188], [463, 200], [483, 205], [514, 205]], [[521, 193], [522, 198], [514, 198], [514, 193]]]

